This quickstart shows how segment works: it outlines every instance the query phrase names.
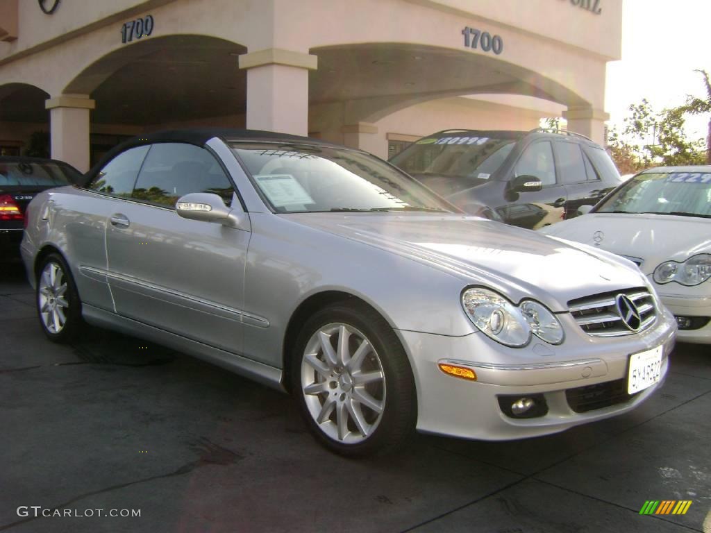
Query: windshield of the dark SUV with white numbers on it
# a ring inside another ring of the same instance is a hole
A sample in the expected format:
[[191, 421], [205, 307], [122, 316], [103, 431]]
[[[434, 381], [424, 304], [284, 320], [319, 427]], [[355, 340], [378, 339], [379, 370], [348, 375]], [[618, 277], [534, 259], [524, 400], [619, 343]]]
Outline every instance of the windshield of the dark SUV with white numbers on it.
[[412, 175], [488, 179], [506, 160], [516, 141], [475, 135], [425, 138], [390, 162]]

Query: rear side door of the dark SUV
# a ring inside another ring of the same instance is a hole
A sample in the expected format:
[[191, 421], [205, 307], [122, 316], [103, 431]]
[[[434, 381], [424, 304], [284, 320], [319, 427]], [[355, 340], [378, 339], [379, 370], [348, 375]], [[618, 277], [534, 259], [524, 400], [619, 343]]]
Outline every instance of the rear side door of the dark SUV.
[[567, 190], [565, 218], [573, 218], [577, 216], [581, 205], [595, 205], [604, 196], [602, 182], [589, 157], [577, 142], [556, 141], [555, 156], [559, 174]]

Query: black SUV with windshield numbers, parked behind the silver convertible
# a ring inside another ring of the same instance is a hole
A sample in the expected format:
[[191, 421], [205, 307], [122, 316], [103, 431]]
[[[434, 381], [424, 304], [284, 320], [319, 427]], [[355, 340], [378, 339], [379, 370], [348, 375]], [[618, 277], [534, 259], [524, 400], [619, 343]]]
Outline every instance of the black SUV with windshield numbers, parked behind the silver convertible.
[[390, 163], [466, 212], [487, 205], [505, 222], [528, 228], [572, 218], [620, 183], [598, 144], [542, 129], [439, 131]]

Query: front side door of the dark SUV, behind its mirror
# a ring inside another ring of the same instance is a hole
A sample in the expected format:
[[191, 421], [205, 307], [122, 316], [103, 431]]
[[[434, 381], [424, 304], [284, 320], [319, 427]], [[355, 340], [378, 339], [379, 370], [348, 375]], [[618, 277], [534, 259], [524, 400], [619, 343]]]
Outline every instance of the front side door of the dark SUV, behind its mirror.
[[[507, 193], [506, 200], [510, 202], [508, 205], [535, 204], [547, 212], [565, 205], [567, 200], [565, 186], [557, 178], [555, 157], [550, 141], [533, 141], [525, 147], [513, 167], [510, 179], [518, 176], [535, 176], [541, 181], [542, 188], [534, 192]], [[504, 220], [520, 227], [533, 228], [535, 223], [540, 221], [540, 217], [537, 218], [533, 214], [532, 210], [531, 217], [520, 219], [520, 221]]]

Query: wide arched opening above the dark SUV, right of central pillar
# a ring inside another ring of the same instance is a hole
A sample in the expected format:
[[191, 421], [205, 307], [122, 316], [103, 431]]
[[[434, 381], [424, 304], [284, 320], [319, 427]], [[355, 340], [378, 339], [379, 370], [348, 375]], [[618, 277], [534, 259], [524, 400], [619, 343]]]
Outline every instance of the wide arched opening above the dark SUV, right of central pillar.
[[[588, 105], [570, 87], [494, 53], [410, 43], [310, 51], [319, 57], [309, 75], [310, 131], [381, 157], [434, 131], [533, 129], [565, 107]], [[412, 135], [391, 124], [408, 124]]]

